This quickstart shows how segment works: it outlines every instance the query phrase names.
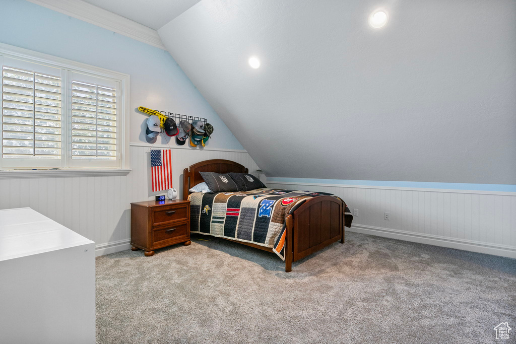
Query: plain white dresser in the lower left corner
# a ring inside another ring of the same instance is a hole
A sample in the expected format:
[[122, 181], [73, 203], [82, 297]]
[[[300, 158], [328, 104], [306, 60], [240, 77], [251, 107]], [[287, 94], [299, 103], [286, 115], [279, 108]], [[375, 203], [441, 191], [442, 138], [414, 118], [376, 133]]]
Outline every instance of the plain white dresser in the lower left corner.
[[0, 210], [0, 342], [95, 342], [95, 243], [30, 208]]

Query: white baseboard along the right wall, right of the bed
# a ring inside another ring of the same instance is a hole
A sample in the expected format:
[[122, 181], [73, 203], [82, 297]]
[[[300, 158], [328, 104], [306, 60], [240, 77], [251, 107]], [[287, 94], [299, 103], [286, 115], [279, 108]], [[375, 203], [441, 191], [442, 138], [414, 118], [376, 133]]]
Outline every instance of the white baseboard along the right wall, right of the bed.
[[365, 226], [361, 224], [353, 224], [351, 228], [346, 228], [346, 231], [356, 232], [362, 234], [376, 235], [385, 238], [412, 241], [418, 243], [425, 243], [429, 245], [436, 245], [447, 247], [451, 249], [458, 249], [464, 251], [472, 251], [478, 253], [492, 254], [495, 256], [502, 256], [516, 259], [516, 248], [506, 245], [499, 245], [494, 243], [472, 241], [466, 239], [455, 239], [441, 237], [438, 235], [413, 233], [400, 230], [392, 230], [390, 228]]

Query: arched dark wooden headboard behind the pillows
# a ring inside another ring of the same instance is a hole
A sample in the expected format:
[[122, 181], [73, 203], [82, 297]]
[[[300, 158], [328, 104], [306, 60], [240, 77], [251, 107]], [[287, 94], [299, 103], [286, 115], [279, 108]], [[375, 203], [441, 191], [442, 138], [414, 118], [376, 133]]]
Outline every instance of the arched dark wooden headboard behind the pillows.
[[194, 163], [189, 168], [183, 170], [183, 200], [188, 199], [190, 189], [199, 183], [204, 182], [199, 172], [216, 173], [249, 173], [249, 169], [240, 165], [238, 162], [223, 159], [204, 160]]

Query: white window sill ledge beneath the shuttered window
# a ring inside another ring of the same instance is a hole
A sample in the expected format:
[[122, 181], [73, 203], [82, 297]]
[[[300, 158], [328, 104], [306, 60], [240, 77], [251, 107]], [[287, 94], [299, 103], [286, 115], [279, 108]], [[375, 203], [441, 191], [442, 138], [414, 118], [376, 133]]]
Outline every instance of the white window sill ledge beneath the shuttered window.
[[0, 179], [20, 178], [64, 178], [64, 177], [100, 177], [127, 175], [131, 170], [9, 170], [0, 171]]

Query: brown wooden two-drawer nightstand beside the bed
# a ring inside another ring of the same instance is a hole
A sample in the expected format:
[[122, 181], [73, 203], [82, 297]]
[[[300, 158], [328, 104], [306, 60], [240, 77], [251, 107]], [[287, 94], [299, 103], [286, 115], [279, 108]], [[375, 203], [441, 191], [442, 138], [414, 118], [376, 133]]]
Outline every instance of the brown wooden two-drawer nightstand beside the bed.
[[166, 200], [131, 203], [131, 250], [154, 250], [190, 241], [190, 201]]

